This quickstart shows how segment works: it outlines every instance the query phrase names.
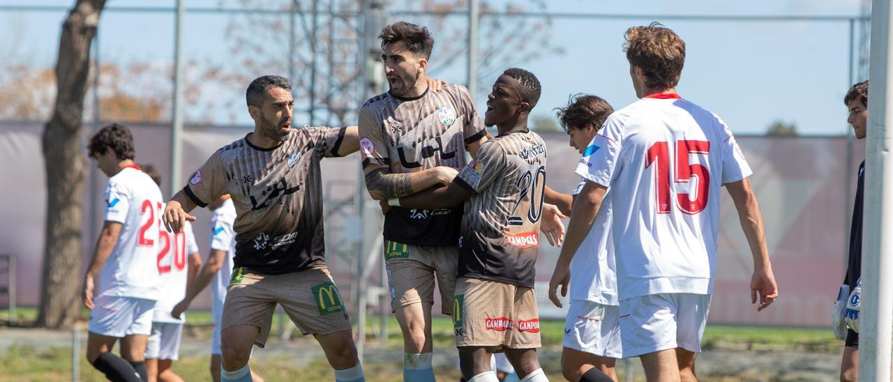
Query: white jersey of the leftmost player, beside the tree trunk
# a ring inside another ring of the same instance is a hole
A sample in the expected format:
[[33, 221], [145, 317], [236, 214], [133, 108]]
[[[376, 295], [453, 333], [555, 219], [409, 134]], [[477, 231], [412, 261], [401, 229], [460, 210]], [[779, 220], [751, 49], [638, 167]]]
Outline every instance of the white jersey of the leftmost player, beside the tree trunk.
[[104, 199], [105, 221], [121, 223], [121, 234], [105, 261], [96, 295], [156, 300], [162, 191], [138, 166], [132, 166], [109, 179]]

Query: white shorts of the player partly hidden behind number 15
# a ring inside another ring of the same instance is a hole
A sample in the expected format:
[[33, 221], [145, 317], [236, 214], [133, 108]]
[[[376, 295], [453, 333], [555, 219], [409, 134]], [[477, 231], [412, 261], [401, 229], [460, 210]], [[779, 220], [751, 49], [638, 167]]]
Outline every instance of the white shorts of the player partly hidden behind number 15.
[[621, 358], [620, 307], [572, 300], [564, 320], [563, 346], [600, 357]]

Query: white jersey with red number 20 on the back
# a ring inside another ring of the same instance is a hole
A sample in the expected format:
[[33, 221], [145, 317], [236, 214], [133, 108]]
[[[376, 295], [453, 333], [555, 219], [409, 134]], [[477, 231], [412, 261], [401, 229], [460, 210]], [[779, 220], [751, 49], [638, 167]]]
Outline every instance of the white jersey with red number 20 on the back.
[[188, 256], [198, 252], [192, 224], [188, 221], [179, 234], [168, 232], [164, 227], [158, 232], [157, 268], [161, 275], [158, 301], [155, 303], [153, 322], [185, 322], [174, 319], [174, 305], [186, 297], [189, 274]]

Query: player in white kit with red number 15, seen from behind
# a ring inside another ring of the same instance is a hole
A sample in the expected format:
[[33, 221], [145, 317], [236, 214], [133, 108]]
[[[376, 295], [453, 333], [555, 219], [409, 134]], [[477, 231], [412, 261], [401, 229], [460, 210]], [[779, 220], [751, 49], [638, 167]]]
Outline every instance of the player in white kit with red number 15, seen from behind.
[[731, 130], [675, 87], [685, 43], [653, 23], [626, 32], [630, 77], [641, 99], [613, 112], [577, 166], [588, 180], [573, 206], [549, 283], [566, 287], [573, 254], [610, 187], [624, 357], [641, 357], [647, 379], [696, 380], [716, 270], [720, 189], [729, 191], [754, 258], [751, 301], [778, 297], [763, 219]]

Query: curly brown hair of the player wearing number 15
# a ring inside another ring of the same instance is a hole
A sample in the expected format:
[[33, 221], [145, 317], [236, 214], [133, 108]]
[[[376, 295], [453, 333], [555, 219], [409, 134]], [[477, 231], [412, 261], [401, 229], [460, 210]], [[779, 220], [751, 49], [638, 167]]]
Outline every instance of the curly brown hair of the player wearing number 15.
[[645, 74], [645, 85], [663, 91], [676, 87], [685, 65], [685, 41], [660, 22], [626, 30], [623, 51], [630, 65]]

